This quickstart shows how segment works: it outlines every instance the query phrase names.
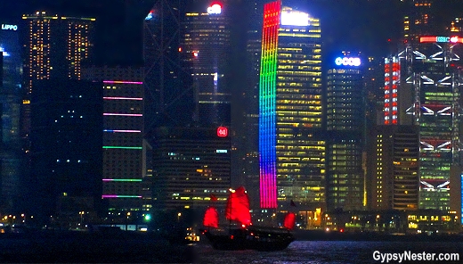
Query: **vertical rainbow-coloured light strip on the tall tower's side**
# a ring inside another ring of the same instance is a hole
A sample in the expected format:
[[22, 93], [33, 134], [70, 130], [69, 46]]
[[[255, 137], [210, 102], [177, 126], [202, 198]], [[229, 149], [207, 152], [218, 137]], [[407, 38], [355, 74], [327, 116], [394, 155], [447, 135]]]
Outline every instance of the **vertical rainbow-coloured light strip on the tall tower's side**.
[[264, 4], [259, 81], [259, 184], [261, 208], [277, 208], [276, 76], [281, 1]]

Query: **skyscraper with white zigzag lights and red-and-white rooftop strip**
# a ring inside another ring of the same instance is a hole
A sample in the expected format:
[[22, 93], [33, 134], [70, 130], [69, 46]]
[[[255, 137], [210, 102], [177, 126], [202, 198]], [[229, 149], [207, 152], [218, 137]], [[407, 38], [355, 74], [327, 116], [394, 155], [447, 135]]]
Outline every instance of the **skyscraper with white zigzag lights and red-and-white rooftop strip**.
[[419, 48], [403, 53], [405, 58], [415, 57], [405, 81], [412, 85], [415, 98], [407, 113], [419, 126], [419, 206], [449, 210], [451, 166], [461, 162], [461, 71], [456, 65], [463, 41], [460, 37], [420, 37], [419, 41]]

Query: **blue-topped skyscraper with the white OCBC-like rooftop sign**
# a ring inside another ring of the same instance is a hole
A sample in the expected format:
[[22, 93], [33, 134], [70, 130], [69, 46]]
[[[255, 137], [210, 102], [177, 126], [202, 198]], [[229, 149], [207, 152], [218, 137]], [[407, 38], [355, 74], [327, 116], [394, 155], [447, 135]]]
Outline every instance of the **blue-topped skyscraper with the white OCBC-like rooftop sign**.
[[365, 103], [361, 58], [337, 57], [327, 76], [327, 208], [361, 210]]

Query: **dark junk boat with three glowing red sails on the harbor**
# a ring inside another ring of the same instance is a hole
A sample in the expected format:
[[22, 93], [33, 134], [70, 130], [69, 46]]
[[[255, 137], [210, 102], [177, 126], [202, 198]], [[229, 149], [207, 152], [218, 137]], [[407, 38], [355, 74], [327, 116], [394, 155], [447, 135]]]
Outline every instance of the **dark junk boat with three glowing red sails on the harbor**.
[[[228, 197], [225, 218], [230, 220], [228, 228], [220, 229], [219, 217], [215, 207], [207, 208], [201, 233], [217, 250], [256, 250], [281, 251], [295, 240], [290, 232], [294, 227], [296, 215], [289, 212], [285, 227], [256, 227], [251, 223], [249, 199], [244, 187], [231, 190]], [[232, 226], [231, 223], [236, 225]]]

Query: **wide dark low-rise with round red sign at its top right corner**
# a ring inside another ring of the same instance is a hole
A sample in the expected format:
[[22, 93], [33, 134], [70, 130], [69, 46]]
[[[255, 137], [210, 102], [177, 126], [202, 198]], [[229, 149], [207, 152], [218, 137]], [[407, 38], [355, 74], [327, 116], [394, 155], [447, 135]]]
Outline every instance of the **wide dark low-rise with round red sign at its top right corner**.
[[156, 210], [224, 208], [230, 188], [228, 128], [158, 128], [153, 144]]

